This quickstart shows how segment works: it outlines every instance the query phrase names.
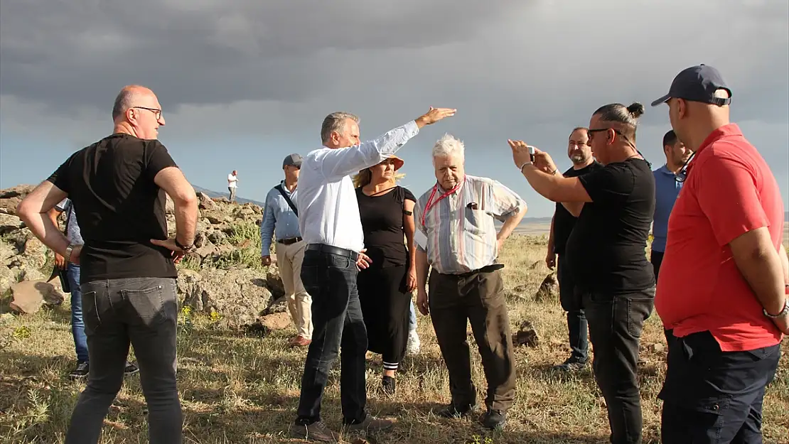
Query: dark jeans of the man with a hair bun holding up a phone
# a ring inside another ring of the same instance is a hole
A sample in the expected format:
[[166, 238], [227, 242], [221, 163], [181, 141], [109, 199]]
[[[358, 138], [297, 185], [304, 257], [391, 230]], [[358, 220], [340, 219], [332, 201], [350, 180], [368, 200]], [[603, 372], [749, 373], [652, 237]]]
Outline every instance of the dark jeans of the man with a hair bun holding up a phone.
[[608, 405], [612, 444], [641, 444], [638, 343], [652, 314], [655, 288], [611, 296], [584, 292], [583, 304], [593, 345], [593, 371]]

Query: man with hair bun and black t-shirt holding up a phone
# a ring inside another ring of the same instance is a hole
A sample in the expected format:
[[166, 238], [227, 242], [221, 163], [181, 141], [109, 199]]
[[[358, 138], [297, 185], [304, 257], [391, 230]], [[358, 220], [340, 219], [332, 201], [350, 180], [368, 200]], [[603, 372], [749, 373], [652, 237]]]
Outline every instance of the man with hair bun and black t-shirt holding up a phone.
[[612, 103], [594, 112], [589, 145], [604, 167], [579, 177], [562, 177], [551, 156], [539, 150], [531, 162], [528, 147], [510, 140], [515, 165], [529, 184], [578, 215], [565, 254], [589, 322], [594, 375], [615, 444], [641, 443], [636, 365], [641, 329], [655, 300], [655, 277], [645, 254], [655, 179], [635, 146], [643, 112], [641, 103]]

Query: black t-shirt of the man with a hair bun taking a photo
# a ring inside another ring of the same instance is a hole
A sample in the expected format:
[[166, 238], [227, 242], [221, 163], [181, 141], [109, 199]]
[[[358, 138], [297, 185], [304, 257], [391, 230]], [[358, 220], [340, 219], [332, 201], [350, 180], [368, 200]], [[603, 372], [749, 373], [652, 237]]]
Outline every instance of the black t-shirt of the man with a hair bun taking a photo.
[[643, 159], [627, 159], [578, 177], [585, 203], [567, 241], [567, 263], [581, 290], [610, 295], [655, 285], [645, 248], [655, 207], [655, 178]]

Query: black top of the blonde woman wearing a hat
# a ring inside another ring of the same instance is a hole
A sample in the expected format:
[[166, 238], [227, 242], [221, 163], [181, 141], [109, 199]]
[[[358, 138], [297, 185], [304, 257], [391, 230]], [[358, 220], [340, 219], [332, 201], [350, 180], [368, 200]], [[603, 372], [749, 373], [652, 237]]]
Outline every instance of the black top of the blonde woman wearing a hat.
[[416, 202], [416, 198], [401, 186], [378, 196], [367, 196], [356, 188], [361, 229], [365, 233], [365, 254], [370, 256], [370, 267], [394, 267], [408, 263], [405, 230], [403, 228], [403, 203]]

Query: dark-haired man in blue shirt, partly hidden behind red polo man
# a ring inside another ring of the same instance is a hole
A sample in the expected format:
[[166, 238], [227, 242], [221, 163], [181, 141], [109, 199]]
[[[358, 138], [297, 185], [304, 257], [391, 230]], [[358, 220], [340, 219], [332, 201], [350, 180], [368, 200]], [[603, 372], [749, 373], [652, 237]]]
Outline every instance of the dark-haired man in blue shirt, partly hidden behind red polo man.
[[660, 262], [663, 261], [663, 253], [666, 251], [668, 216], [671, 215], [679, 190], [682, 189], [682, 182], [675, 180], [676, 173], [690, 159], [693, 151], [686, 148], [671, 129], [663, 136], [663, 154], [666, 155], [666, 164], [653, 171], [655, 175], [655, 214], [652, 226], [654, 238], [649, 260], [655, 272], [655, 282], [660, 271]]

